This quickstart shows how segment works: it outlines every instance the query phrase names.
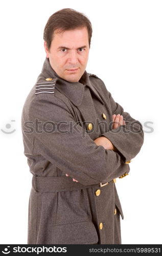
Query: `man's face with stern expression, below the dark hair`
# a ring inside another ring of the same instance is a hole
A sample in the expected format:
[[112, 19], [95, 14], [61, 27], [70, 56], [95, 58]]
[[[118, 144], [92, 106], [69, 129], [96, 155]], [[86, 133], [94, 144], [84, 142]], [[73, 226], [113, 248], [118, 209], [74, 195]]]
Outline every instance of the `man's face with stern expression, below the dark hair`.
[[53, 70], [64, 80], [78, 82], [83, 75], [89, 54], [87, 28], [54, 32], [50, 50], [44, 42], [47, 58]]

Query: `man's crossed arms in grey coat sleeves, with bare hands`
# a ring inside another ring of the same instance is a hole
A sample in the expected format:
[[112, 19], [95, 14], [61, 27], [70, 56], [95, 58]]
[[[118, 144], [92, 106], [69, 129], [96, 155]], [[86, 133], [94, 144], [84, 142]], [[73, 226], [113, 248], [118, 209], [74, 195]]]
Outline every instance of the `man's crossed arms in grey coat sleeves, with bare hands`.
[[[40, 132], [33, 129], [30, 137], [27, 135], [31, 138], [33, 154], [42, 155], [64, 175], [73, 177], [83, 185], [104, 183], [128, 173], [129, 165], [125, 163], [136, 156], [144, 141], [142, 124], [124, 112], [106, 89], [103, 93], [107, 94], [114, 124], [113, 129], [101, 133], [101, 137], [95, 140], [76, 122], [71, 106], [57, 96], [37, 95], [29, 111], [29, 120], [33, 125], [36, 120], [40, 123]], [[61, 123], [61, 132], [59, 129], [44, 131], [44, 124], [49, 121], [58, 128], [60, 126], [57, 124]], [[73, 133], [71, 123], [75, 128]]]

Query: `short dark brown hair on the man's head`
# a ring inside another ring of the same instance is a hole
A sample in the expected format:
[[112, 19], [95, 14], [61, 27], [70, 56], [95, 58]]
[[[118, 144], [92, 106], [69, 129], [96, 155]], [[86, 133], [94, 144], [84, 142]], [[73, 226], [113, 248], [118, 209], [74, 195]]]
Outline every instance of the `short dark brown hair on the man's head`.
[[61, 9], [50, 16], [44, 28], [43, 39], [47, 42], [47, 47], [50, 50], [55, 30], [61, 33], [65, 30], [86, 27], [88, 31], [88, 41], [90, 48], [90, 40], [92, 36], [92, 27], [90, 20], [81, 12], [74, 9]]

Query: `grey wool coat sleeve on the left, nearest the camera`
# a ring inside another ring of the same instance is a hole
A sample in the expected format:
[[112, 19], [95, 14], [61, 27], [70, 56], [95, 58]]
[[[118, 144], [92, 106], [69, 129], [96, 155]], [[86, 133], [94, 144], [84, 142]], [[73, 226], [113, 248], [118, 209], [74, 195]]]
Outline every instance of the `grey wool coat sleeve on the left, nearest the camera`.
[[107, 182], [124, 173], [121, 156], [96, 145], [59, 98], [37, 95], [30, 104], [29, 120], [33, 124], [33, 152], [83, 185]]

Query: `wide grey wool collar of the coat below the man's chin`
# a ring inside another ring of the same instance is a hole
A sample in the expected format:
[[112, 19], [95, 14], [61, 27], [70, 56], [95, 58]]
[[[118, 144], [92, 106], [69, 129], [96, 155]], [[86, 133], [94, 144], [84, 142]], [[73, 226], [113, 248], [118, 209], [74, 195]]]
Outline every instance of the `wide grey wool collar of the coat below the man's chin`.
[[63, 93], [68, 99], [70, 99], [76, 106], [79, 106], [82, 103], [85, 86], [88, 86], [90, 90], [102, 102], [102, 104], [104, 104], [100, 95], [90, 82], [89, 75], [86, 71], [80, 78], [79, 82], [68, 82], [57, 75], [57, 73], [52, 69], [50, 65], [49, 58], [45, 58], [41, 73], [45, 78], [56, 78], [56, 88], [61, 93]]

